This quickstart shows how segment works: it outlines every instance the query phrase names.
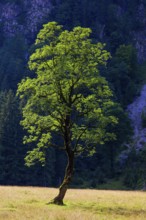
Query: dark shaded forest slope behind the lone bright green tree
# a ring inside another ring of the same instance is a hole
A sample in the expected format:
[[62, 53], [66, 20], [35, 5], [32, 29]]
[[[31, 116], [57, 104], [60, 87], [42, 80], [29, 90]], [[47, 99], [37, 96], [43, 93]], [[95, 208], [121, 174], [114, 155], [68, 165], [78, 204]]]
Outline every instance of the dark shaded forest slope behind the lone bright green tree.
[[[24, 7], [23, 0], [3, 0], [1, 4], [16, 6], [16, 26], [29, 30], [26, 19], [30, 9]], [[27, 62], [36, 34], [44, 23], [57, 21], [68, 30], [75, 26], [90, 27], [93, 41], [106, 43], [112, 58], [100, 71], [114, 93], [117, 105], [112, 111], [119, 118], [118, 125], [108, 128], [115, 132], [116, 140], [98, 145], [93, 157], [76, 159], [72, 187], [144, 188], [145, 146], [139, 152], [136, 147], [126, 155], [123, 152], [133, 135], [126, 109], [146, 83], [146, 1], [52, 0], [50, 4], [50, 11], [37, 23], [33, 34], [14, 30], [14, 27], [13, 33], [6, 31], [6, 16], [0, 19], [0, 184], [59, 186], [63, 178], [66, 158], [53, 148], [48, 149], [45, 166], [40, 163], [30, 168], [25, 166], [24, 157], [31, 146], [22, 143], [25, 132], [20, 126], [21, 103], [16, 97], [17, 84], [25, 76], [34, 74], [28, 70]], [[1, 14], [6, 6], [1, 9]], [[146, 126], [145, 122], [143, 116], [143, 126]]]

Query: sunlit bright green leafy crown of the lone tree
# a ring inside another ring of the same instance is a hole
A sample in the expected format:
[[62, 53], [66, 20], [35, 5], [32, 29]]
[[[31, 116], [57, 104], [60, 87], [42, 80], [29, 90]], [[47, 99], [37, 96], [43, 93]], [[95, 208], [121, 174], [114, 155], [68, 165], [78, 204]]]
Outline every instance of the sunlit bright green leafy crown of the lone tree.
[[114, 105], [112, 93], [98, 71], [110, 54], [103, 44], [91, 42], [90, 33], [81, 27], [63, 31], [50, 22], [37, 36], [38, 48], [29, 60], [36, 77], [22, 80], [18, 87], [20, 97], [26, 98], [21, 122], [28, 131], [24, 142], [36, 146], [27, 161], [45, 162], [49, 146], [63, 147], [56, 140], [63, 145], [68, 138], [75, 154], [93, 154], [98, 143], [115, 138], [106, 130], [117, 123], [108, 111]]

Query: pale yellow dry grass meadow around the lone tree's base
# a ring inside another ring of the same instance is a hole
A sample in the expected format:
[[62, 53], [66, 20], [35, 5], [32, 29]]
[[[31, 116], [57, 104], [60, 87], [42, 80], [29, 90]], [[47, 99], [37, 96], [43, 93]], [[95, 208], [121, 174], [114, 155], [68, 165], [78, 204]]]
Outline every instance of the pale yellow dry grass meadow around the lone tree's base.
[[68, 190], [63, 207], [47, 205], [57, 189], [0, 187], [0, 220], [145, 220], [146, 193]]

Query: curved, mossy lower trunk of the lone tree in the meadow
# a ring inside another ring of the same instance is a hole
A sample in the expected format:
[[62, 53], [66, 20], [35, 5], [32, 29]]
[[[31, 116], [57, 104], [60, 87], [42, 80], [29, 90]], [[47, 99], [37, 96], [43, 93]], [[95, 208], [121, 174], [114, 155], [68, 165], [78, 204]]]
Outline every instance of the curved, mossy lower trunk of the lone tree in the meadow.
[[68, 163], [65, 171], [64, 180], [59, 187], [59, 194], [50, 202], [51, 204], [64, 205], [63, 199], [73, 176], [74, 152], [72, 150], [67, 150], [66, 153], [68, 157]]

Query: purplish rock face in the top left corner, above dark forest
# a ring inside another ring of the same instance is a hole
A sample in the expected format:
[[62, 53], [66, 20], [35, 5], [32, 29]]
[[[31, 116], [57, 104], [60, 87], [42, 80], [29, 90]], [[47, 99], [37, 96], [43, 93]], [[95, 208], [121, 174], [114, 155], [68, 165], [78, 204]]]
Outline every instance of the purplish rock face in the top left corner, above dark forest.
[[6, 37], [23, 33], [34, 37], [52, 9], [50, 0], [23, 0], [0, 4], [0, 25]]

